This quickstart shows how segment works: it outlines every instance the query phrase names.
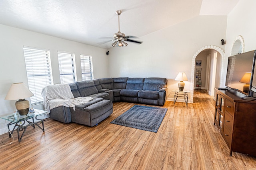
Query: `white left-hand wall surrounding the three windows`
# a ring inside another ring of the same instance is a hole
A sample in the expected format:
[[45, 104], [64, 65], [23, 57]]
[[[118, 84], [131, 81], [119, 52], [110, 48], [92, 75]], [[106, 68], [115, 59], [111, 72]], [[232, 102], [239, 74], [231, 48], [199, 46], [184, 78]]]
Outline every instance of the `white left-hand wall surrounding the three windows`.
[[[50, 49], [54, 84], [60, 83], [57, 51], [75, 53], [77, 80], [82, 80], [80, 54], [92, 55], [94, 78], [108, 77], [106, 49], [68, 41], [40, 33], [0, 25], [0, 107], [1, 115], [13, 113], [16, 101], [4, 100], [10, 86], [15, 82], [28, 85], [23, 46]], [[6, 124], [0, 119], [0, 134], [7, 132]]]

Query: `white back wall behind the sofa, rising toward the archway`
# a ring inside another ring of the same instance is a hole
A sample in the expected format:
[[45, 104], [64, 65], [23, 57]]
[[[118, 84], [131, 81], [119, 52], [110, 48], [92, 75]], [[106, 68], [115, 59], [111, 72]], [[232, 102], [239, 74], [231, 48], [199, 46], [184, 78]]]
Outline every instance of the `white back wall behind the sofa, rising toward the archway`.
[[[140, 39], [140, 45], [128, 42], [127, 47], [108, 49], [110, 77], [166, 77], [168, 99], [178, 72], [186, 72], [184, 90], [190, 90], [192, 57], [206, 45], [221, 46], [226, 37], [226, 16], [198, 16], [167, 27]], [[194, 75], [193, 75], [194, 76]]]

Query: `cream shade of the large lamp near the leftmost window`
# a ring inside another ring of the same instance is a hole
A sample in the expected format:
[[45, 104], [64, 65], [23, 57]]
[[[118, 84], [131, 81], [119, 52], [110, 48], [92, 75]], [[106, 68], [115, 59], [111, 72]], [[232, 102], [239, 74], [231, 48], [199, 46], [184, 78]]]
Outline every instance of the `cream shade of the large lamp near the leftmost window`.
[[34, 96], [24, 83], [13, 83], [10, 87], [5, 100], [19, 100]]

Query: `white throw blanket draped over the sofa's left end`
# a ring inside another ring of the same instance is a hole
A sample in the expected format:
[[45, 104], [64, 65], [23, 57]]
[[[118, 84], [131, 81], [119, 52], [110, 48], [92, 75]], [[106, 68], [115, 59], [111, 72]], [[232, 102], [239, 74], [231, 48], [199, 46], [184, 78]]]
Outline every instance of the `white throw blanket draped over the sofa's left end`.
[[82, 105], [93, 100], [91, 97], [74, 98], [70, 86], [68, 84], [49, 85], [42, 89], [42, 96], [44, 99], [44, 110], [50, 113], [50, 109], [59, 106], [73, 107]]

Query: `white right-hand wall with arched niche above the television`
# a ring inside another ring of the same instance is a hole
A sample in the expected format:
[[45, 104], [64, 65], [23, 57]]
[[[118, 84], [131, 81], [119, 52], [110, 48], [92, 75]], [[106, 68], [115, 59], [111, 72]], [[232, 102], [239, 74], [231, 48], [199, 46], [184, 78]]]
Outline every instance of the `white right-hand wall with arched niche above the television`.
[[[228, 15], [224, 74], [226, 75], [228, 57], [235, 38], [241, 35], [244, 38], [244, 52], [256, 49], [256, 1], [240, 0], [235, 8]], [[223, 78], [225, 84], [226, 76]]]

